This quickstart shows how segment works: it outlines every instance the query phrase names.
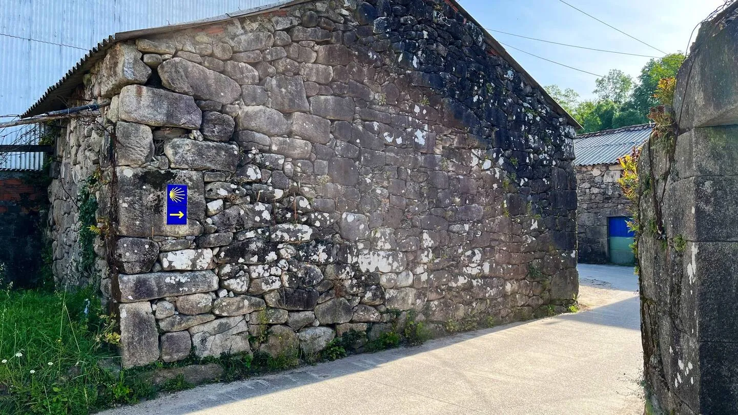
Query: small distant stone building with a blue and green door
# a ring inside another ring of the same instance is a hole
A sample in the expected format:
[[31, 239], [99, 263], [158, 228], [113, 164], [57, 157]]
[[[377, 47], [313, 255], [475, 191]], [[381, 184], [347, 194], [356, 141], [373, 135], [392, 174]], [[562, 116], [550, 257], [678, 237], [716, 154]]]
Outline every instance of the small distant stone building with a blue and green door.
[[579, 261], [592, 264], [632, 265], [631, 202], [618, 179], [618, 159], [648, 140], [651, 126], [630, 126], [582, 134], [574, 140], [576, 154], [577, 240]]

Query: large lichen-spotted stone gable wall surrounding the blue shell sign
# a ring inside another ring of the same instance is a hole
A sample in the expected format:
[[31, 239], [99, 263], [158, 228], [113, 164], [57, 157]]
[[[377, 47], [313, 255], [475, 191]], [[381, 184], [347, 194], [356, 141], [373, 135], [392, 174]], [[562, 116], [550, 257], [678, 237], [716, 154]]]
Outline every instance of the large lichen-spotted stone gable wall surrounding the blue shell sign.
[[[446, 3], [346, 4], [120, 43], [87, 79], [108, 134], [77, 130], [65, 162], [100, 160], [124, 366], [573, 303], [567, 120]], [[167, 184], [189, 187], [185, 226]]]

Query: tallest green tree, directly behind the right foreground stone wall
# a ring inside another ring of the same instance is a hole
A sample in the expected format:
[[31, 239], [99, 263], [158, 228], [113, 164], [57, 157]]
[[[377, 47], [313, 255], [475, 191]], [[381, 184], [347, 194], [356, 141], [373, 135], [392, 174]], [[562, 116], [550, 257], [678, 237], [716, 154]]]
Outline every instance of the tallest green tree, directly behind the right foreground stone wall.
[[638, 85], [633, 89], [627, 103], [627, 107], [635, 110], [640, 116], [639, 123], [646, 123], [646, 114], [652, 107], [659, 105], [658, 100], [653, 96], [658, 87], [658, 81], [662, 78], [677, 76], [684, 59], [683, 53], [672, 53], [661, 59], [651, 59], [641, 69], [641, 75], [638, 76]]

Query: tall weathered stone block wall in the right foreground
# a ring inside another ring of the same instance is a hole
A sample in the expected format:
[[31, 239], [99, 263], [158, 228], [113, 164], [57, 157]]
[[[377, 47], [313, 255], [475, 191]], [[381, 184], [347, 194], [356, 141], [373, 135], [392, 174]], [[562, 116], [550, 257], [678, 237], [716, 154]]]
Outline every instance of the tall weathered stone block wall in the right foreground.
[[737, 5], [703, 24], [677, 77], [678, 137], [641, 154], [646, 409], [738, 408]]

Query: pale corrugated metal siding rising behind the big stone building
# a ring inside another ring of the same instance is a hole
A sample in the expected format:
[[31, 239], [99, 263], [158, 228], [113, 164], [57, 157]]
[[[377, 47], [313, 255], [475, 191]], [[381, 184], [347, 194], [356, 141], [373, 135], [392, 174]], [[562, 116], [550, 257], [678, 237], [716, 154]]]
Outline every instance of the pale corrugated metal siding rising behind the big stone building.
[[[0, 6], [0, 122], [10, 120], [2, 115], [21, 114], [28, 109], [108, 35], [193, 21], [274, 2], [3, 0]], [[2, 134], [7, 131], [0, 136]], [[0, 137], [0, 144], [10, 143], [13, 143], [11, 137]], [[39, 168], [40, 165], [32, 161], [37, 159], [38, 155], [7, 157], [6, 162], [0, 162], [0, 169]]]

